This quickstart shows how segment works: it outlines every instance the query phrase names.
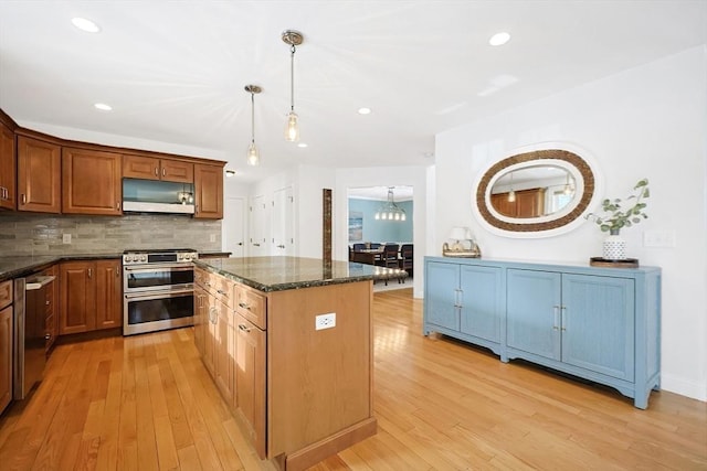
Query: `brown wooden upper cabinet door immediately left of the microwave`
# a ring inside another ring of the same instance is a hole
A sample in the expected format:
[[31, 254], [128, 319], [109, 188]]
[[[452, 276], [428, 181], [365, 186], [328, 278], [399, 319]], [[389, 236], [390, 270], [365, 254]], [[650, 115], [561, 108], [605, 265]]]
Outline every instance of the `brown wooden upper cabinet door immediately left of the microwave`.
[[85, 149], [62, 149], [65, 214], [120, 215], [123, 181], [120, 154]]

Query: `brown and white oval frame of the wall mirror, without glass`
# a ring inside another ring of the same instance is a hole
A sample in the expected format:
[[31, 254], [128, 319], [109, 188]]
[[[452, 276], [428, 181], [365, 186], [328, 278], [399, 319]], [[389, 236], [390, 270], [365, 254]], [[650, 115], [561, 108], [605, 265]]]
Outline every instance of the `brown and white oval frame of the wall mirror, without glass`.
[[[517, 218], [517, 222], [504, 221], [496, 216], [490, 210], [490, 188], [494, 182], [509, 168], [520, 170], [526, 167], [542, 164], [562, 163], [576, 175], [582, 179], [582, 194], [578, 202], [573, 202], [573, 207], [569, 212], [558, 215], [558, 217], [542, 218]], [[590, 164], [577, 153], [566, 149], [541, 149], [523, 153], [516, 153], [493, 164], [483, 173], [476, 185], [475, 208], [478, 215], [489, 226], [495, 228], [500, 235], [511, 237], [542, 237], [555, 235], [562, 228], [571, 228], [574, 223], [590, 207], [597, 195], [597, 178]]]

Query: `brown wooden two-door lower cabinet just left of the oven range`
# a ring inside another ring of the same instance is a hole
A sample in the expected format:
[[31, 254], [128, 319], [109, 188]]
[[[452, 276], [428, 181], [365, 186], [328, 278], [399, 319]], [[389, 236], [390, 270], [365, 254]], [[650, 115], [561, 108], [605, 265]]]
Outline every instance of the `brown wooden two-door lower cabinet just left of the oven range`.
[[63, 261], [60, 289], [61, 335], [123, 325], [119, 259]]

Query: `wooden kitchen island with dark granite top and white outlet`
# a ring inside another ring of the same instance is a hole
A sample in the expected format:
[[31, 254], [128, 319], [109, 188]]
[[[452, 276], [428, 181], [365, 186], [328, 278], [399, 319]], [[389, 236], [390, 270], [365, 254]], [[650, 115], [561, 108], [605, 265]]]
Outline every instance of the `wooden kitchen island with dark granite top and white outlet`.
[[197, 347], [261, 459], [302, 470], [376, 433], [373, 267], [298, 257], [194, 265]]

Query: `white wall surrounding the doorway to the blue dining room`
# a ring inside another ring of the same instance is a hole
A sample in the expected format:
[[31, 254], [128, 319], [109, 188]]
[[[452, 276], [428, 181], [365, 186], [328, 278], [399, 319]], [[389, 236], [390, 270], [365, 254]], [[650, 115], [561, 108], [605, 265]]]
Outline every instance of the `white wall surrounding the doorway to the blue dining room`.
[[374, 167], [359, 169], [338, 169], [336, 171], [336, 190], [334, 191], [334, 258], [348, 259], [348, 189], [357, 186], [412, 186], [412, 231], [415, 276], [413, 292], [422, 297], [422, 259], [429, 253], [426, 227], [428, 210], [428, 173], [424, 167]]

